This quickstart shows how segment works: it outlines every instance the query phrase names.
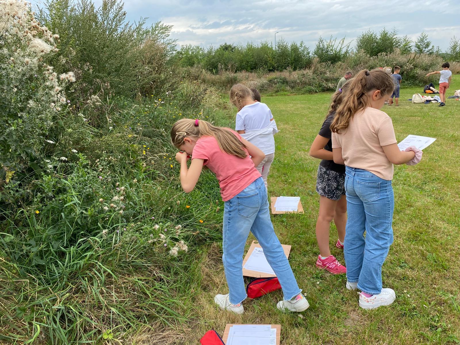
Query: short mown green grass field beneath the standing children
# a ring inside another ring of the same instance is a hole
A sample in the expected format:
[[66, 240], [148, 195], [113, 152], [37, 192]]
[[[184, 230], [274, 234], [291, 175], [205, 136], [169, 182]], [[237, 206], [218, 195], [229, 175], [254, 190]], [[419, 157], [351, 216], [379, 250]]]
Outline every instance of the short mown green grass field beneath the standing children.
[[[460, 89], [454, 76], [453, 90]], [[270, 196], [300, 196], [302, 215], [272, 216], [282, 243], [292, 245], [289, 258], [310, 308], [300, 314], [276, 309], [282, 293], [244, 302], [245, 314], [219, 311], [216, 293], [228, 293], [221, 261], [221, 243], [196, 253], [190, 270], [192, 287], [181, 297], [188, 317], [174, 331], [157, 329], [134, 335], [137, 344], [198, 344], [214, 328], [223, 334], [227, 323], [281, 324], [281, 343], [304, 344], [459, 344], [460, 343], [460, 102], [447, 106], [411, 104], [415, 88], [402, 88], [400, 106], [385, 106], [398, 141], [408, 134], [437, 138], [414, 167], [395, 167], [393, 188], [394, 243], [383, 266], [385, 287], [396, 291], [389, 307], [365, 311], [358, 295], [345, 289], [345, 276], [333, 276], [315, 266], [318, 249], [315, 224], [319, 197], [316, 169], [319, 160], [308, 150], [328, 109], [330, 93], [263, 97], [276, 118], [276, 156], [269, 175]], [[331, 250], [342, 262], [343, 253], [331, 226]], [[252, 237], [247, 243], [252, 241]]]

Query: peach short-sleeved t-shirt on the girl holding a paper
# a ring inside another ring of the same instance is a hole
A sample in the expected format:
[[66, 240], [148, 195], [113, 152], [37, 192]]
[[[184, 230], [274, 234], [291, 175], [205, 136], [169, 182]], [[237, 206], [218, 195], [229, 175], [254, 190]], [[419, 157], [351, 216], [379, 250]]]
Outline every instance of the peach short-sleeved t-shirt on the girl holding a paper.
[[393, 178], [394, 169], [382, 146], [395, 143], [391, 117], [370, 107], [357, 112], [348, 128], [332, 133], [332, 148], [342, 148], [347, 167], [367, 170], [384, 180]]

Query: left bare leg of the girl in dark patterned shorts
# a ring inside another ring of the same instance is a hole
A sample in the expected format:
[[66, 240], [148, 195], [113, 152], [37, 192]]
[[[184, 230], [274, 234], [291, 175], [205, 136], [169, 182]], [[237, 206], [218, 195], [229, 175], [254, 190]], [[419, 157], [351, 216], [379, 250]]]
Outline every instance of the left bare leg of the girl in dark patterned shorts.
[[[316, 241], [318, 241], [319, 254], [323, 258], [327, 258], [331, 255], [331, 250], [329, 249], [329, 229], [332, 220], [335, 218], [337, 202], [338, 201], [328, 199], [325, 196], [320, 196], [319, 199], [319, 214], [318, 221], [316, 222]], [[344, 237], [342, 237], [342, 239], [343, 238]]]

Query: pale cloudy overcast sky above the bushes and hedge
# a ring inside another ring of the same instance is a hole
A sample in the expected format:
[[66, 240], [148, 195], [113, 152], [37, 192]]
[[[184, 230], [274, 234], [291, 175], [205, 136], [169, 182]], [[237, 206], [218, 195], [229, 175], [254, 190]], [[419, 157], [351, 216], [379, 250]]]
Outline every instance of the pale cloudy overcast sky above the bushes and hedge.
[[[35, 1], [37, 2], [37, 1]], [[100, 4], [101, 0], [95, 0]], [[179, 45], [303, 40], [314, 48], [319, 36], [353, 41], [363, 31], [395, 28], [416, 39], [422, 31], [443, 51], [460, 38], [459, 3], [453, 0], [126, 0], [129, 21], [149, 17], [173, 25]], [[456, 14], [454, 14], [456, 13]]]

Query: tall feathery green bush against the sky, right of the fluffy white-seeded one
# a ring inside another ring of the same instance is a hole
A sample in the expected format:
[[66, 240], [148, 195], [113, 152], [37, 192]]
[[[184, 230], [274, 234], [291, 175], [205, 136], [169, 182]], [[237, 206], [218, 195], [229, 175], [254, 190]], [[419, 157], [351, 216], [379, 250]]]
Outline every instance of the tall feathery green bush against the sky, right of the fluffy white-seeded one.
[[169, 38], [172, 26], [157, 22], [146, 28], [143, 19], [127, 23], [123, 3], [118, 0], [103, 0], [99, 8], [91, 0], [48, 0], [46, 9], [40, 11], [40, 21], [61, 34], [57, 42], [60, 51], [49, 63], [77, 76], [71, 99], [171, 89], [168, 80], [173, 70], [167, 58], [175, 47], [175, 40]]

